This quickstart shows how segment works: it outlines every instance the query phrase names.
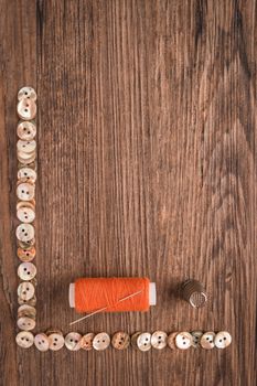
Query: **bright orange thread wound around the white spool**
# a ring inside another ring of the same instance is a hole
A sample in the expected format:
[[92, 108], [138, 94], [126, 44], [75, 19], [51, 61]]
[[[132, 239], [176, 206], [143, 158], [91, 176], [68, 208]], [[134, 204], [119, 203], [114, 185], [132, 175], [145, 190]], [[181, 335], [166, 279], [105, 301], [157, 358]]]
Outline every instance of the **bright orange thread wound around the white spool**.
[[[148, 311], [148, 278], [83, 278], [75, 281], [75, 309], [77, 312]], [[126, 297], [139, 292], [136, 297]]]

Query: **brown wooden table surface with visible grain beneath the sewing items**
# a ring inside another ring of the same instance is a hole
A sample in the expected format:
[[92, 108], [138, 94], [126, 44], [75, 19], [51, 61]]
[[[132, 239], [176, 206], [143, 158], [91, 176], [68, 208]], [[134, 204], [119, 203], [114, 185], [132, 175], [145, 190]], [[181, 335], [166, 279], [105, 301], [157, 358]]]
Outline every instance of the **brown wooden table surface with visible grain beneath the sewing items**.
[[[256, 382], [256, 1], [0, 1], [0, 385]], [[224, 351], [18, 349], [17, 92], [38, 92], [38, 324], [83, 276], [148, 276], [149, 313], [74, 326], [226, 330]], [[178, 285], [200, 279], [192, 309]]]

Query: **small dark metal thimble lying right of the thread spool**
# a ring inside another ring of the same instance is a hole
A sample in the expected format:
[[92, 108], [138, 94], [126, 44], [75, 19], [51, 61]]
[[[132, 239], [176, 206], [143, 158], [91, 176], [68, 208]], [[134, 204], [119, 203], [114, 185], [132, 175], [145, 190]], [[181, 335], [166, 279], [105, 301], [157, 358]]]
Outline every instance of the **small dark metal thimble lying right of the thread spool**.
[[201, 308], [207, 301], [207, 293], [203, 285], [197, 280], [186, 280], [183, 282], [181, 290], [184, 300], [186, 300], [194, 308]]

